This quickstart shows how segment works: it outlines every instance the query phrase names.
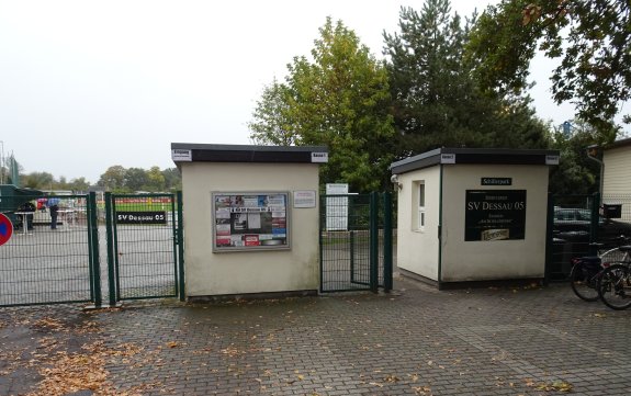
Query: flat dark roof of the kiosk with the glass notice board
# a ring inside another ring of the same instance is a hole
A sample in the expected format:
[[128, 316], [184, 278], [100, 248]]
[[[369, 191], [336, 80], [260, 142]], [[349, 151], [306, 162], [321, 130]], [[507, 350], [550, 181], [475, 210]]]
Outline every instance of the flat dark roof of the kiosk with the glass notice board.
[[253, 146], [171, 143], [171, 159], [182, 162], [328, 162], [326, 146]]

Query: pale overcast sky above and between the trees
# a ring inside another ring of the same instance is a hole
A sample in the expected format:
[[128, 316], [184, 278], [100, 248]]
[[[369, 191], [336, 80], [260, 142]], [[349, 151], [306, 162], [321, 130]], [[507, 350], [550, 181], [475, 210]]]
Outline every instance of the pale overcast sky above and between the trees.
[[[452, 0], [469, 15], [489, 1]], [[495, 1], [494, 1], [495, 2]], [[84, 177], [113, 165], [173, 167], [170, 144], [249, 144], [262, 89], [308, 55], [329, 15], [382, 57], [401, 5], [422, 1], [0, 0], [0, 140], [25, 173]], [[572, 118], [549, 99], [539, 116]]]

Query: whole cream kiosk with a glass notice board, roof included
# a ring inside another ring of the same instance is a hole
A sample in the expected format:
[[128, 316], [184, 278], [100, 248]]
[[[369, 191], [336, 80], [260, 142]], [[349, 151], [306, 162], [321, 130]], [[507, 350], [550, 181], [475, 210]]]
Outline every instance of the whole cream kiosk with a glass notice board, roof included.
[[316, 294], [326, 147], [172, 143], [188, 298]]

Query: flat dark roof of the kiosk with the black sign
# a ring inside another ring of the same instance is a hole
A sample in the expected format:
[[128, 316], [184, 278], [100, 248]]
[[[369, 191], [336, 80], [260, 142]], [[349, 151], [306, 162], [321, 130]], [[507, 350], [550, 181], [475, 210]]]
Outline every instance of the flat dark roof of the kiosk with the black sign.
[[392, 173], [405, 173], [439, 163], [559, 165], [559, 150], [442, 147], [390, 166]]

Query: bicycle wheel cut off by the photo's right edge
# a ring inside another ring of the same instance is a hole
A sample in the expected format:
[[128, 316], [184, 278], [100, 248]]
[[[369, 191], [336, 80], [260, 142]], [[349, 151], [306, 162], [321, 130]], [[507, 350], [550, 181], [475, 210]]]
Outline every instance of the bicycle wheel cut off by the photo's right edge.
[[612, 264], [598, 280], [598, 295], [611, 309], [631, 306], [631, 271], [628, 264]]

